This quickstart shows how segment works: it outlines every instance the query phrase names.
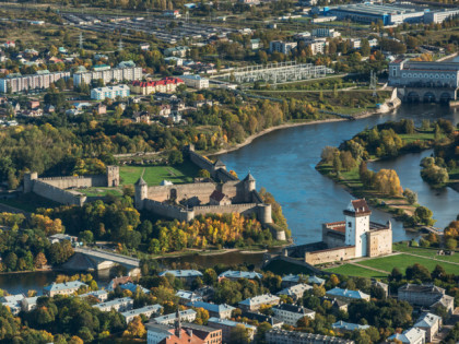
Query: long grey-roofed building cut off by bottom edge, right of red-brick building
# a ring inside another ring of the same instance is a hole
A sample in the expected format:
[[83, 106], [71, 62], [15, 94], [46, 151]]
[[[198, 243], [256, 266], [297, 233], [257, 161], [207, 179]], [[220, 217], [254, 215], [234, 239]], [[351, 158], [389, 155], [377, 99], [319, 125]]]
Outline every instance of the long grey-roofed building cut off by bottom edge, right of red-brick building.
[[354, 344], [354, 341], [298, 331], [272, 329], [266, 333], [268, 344]]

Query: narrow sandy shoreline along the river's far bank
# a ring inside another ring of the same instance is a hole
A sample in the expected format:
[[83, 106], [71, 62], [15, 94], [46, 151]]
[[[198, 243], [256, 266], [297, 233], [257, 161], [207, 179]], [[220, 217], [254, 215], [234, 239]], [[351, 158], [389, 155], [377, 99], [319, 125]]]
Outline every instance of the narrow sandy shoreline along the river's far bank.
[[[390, 99], [387, 99], [384, 104], [388, 105], [389, 103], [392, 103]], [[392, 106], [389, 108], [388, 111], [380, 111], [379, 109], [375, 109], [375, 110], [368, 110], [368, 111], [363, 111], [361, 114], [357, 114], [354, 116], [355, 120], [358, 119], [364, 119], [374, 115], [385, 115], [388, 114], [390, 111], [396, 110], [399, 106], [401, 105], [401, 102], [397, 103], [397, 105]], [[349, 119], [345, 118], [327, 118], [327, 119], [322, 119], [322, 120], [311, 120], [311, 121], [304, 121], [304, 122], [286, 122], [283, 124], [279, 124], [279, 126], [274, 126], [271, 128], [267, 128], [261, 130], [260, 132], [257, 132], [255, 134], [251, 134], [249, 137], [247, 137], [244, 142], [238, 143], [232, 147], [227, 147], [227, 149], [223, 149], [216, 152], [212, 152], [212, 153], [207, 153], [207, 156], [219, 156], [222, 154], [226, 154], [226, 153], [231, 153], [237, 150], [240, 150], [242, 147], [245, 147], [246, 145], [249, 145], [250, 143], [254, 142], [254, 140], [261, 138], [270, 132], [276, 131], [276, 130], [282, 130], [282, 129], [289, 129], [289, 128], [295, 128], [295, 127], [303, 127], [303, 126], [311, 126], [311, 124], [322, 124], [322, 123], [330, 123], [330, 122], [341, 122], [341, 121], [346, 121]]]

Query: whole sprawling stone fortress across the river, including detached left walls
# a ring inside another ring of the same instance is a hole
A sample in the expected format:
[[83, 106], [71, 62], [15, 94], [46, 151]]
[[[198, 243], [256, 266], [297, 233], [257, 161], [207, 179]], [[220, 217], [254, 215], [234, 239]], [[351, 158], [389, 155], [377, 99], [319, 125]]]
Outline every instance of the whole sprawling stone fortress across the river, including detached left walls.
[[[184, 153], [199, 168], [208, 170], [212, 178], [197, 178], [191, 183], [149, 187], [140, 177], [134, 185], [134, 205], [138, 210], [187, 222], [197, 215], [210, 213], [256, 216], [263, 226], [271, 229], [275, 239], [285, 240], [285, 232], [272, 223], [271, 204], [263, 202], [250, 174], [239, 180], [226, 170], [220, 159], [211, 162], [196, 153], [192, 145]], [[75, 189], [119, 185], [118, 166], [107, 166], [107, 174], [97, 176], [38, 178], [36, 173], [24, 176], [25, 193], [35, 192], [61, 204], [79, 206], [101, 198], [86, 197]]]

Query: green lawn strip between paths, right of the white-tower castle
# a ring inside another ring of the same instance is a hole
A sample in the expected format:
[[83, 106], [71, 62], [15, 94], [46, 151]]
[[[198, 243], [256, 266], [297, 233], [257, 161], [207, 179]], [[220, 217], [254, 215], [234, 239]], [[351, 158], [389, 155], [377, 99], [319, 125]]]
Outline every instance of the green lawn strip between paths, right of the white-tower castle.
[[447, 273], [459, 274], [459, 265], [450, 264], [447, 262], [438, 262], [428, 258], [420, 258], [403, 253], [384, 258], [368, 259], [358, 262], [358, 264], [361, 265], [375, 268], [387, 272], [391, 272], [393, 268], [399, 268], [402, 273], [404, 273], [408, 266], [411, 266], [415, 263], [420, 263], [421, 265], [427, 268], [428, 271], [433, 271], [435, 266], [439, 264], [443, 268], [445, 268], [445, 271]]

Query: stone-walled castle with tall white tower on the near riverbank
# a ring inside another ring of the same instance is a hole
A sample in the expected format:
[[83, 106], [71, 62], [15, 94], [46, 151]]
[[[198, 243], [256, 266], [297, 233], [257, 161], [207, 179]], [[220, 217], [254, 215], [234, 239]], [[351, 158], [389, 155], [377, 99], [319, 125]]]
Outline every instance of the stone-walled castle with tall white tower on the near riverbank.
[[304, 258], [311, 265], [392, 252], [392, 226], [369, 221], [365, 199], [352, 200], [343, 211], [344, 221], [322, 225], [322, 241], [284, 249], [286, 257]]

